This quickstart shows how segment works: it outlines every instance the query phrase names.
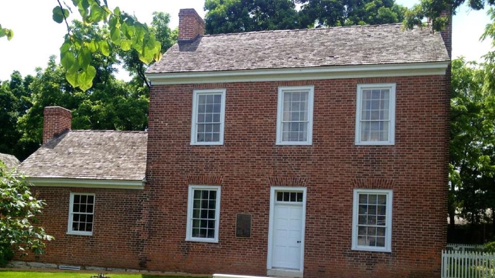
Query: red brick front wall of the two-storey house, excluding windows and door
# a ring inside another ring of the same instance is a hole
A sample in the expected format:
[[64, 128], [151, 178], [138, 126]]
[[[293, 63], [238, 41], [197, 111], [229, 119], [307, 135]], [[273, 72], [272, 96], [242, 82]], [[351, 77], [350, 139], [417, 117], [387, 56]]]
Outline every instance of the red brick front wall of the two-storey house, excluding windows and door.
[[[354, 145], [356, 85], [396, 83], [395, 145]], [[314, 86], [313, 144], [275, 145], [277, 88]], [[195, 89], [226, 89], [224, 145], [190, 145]], [[438, 277], [446, 76], [153, 86], [147, 268], [266, 275], [270, 186], [307, 186], [305, 277]], [[219, 243], [185, 241], [188, 185], [222, 186]], [[392, 253], [350, 250], [353, 188], [394, 190]], [[237, 213], [252, 214], [249, 239]]]

